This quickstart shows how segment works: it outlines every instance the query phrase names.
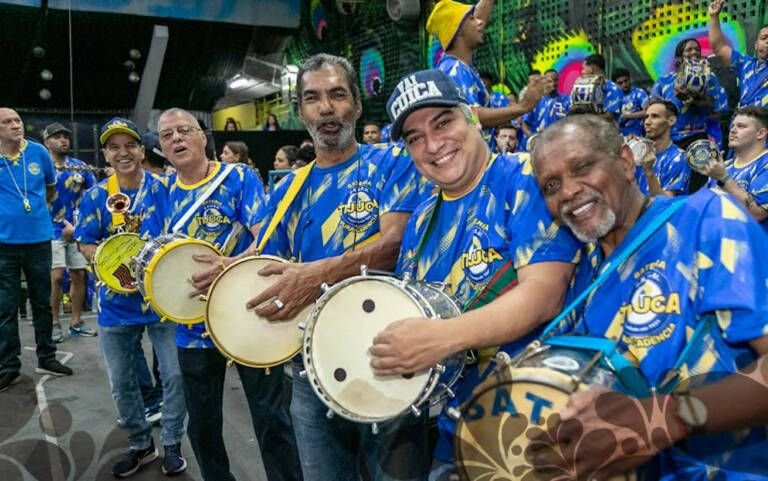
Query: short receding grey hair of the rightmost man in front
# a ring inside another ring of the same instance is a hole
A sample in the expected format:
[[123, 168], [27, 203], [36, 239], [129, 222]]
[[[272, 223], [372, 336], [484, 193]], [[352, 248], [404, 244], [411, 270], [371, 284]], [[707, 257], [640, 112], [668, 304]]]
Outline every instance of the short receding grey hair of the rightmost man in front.
[[536, 138], [536, 145], [531, 155], [534, 170], [542, 146], [573, 130], [583, 133], [584, 135], [580, 137], [581, 141], [592, 146], [594, 150], [618, 156], [622, 145], [624, 145], [624, 137], [622, 137], [615, 122], [609, 122], [602, 117], [591, 114], [565, 117], [544, 129]]

